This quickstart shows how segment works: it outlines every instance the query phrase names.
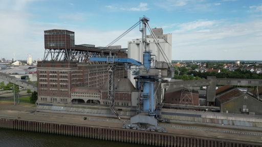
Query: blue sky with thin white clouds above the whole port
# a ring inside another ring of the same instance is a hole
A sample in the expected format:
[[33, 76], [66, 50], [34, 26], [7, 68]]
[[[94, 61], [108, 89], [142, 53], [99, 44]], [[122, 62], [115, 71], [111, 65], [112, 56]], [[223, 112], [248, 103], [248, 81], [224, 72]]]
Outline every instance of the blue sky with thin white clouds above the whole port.
[[[51, 29], [106, 46], [143, 16], [172, 34], [172, 60], [262, 60], [261, 0], [0, 0], [0, 58], [42, 59]], [[139, 27], [113, 45], [137, 38]]]

